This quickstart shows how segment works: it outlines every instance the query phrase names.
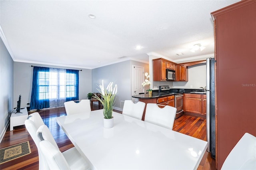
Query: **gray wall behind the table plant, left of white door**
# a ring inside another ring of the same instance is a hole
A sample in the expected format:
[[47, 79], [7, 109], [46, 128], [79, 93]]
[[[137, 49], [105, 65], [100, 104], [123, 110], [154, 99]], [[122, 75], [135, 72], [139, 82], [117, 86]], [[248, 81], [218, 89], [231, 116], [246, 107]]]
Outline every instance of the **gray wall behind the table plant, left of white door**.
[[122, 110], [122, 101], [132, 100], [132, 65], [144, 67], [148, 72], [148, 64], [138, 61], [128, 60], [104, 67], [92, 69], [92, 93], [97, 93], [98, 85], [104, 81], [104, 86], [108, 83], [118, 86], [115, 109]]

